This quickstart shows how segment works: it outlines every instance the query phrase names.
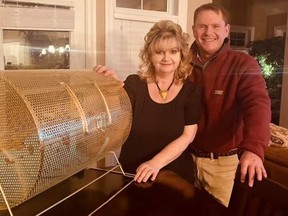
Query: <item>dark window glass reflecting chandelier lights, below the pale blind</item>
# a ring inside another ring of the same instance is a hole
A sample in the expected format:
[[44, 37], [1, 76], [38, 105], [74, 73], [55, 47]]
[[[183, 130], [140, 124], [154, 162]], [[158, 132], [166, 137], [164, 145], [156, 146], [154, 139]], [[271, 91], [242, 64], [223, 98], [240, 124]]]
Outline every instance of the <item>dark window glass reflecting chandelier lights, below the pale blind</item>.
[[5, 70], [69, 69], [69, 32], [4, 30]]

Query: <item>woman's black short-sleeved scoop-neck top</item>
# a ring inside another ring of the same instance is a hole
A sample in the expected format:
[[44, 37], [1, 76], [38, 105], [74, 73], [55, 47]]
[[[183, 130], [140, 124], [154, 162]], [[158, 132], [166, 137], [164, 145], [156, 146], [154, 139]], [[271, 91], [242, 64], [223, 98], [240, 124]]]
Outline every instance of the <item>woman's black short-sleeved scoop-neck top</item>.
[[[135, 173], [141, 163], [153, 158], [178, 138], [185, 125], [198, 123], [201, 90], [196, 84], [186, 81], [172, 101], [160, 104], [150, 98], [147, 83], [138, 75], [129, 75], [124, 83], [132, 104], [133, 118], [119, 161], [125, 172]], [[163, 169], [172, 170], [193, 182], [193, 161], [188, 151]]]

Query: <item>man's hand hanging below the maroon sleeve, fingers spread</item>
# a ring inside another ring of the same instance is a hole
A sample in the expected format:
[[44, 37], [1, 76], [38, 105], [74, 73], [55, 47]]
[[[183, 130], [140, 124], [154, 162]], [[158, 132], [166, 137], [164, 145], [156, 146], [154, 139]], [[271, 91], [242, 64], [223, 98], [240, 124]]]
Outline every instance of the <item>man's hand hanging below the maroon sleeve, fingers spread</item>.
[[263, 177], [267, 178], [267, 173], [261, 158], [252, 152], [244, 151], [240, 158], [240, 166], [240, 180], [244, 183], [248, 174], [249, 187], [253, 187], [255, 177], [257, 177], [258, 181], [261, 181]]

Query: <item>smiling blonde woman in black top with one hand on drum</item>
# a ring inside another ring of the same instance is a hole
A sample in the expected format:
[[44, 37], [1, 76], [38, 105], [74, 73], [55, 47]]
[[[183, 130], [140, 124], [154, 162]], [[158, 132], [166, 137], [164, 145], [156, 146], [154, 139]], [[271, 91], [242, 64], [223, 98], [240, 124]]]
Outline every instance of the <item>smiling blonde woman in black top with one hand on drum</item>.
[[186, 148], [197, 131], [200, 90], [187, 80], [192, 70], [188, 39], [172, 21], [155, 23], [139, 54], [140, 70], [124, 81], [133, 120], [119, 161], [125, 172], [136, 172], [137, 182], [154, 181], [161, 169], [193, 182], [192, 157]]

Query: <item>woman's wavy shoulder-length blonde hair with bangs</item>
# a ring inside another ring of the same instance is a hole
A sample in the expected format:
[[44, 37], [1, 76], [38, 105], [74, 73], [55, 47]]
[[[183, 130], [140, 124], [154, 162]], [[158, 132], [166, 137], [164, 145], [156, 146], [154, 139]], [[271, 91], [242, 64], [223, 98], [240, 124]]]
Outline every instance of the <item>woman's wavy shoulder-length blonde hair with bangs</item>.
[[145, 44], [139, 53], [142, 63], [139, 65], [138, 75], [141, 79], [156, 81], [151, 57], [155, 52], [157, 43], [160, 40], [170, 38], [176, 39], [181, 53], [181, 61], [174, 74], [175, 81], [184, 81], [191, 74], [192, 56], [188, 45], [189, 35], [182, 31], [179, 24], [170, 20], [162, 20], [156, 22], [144, 37]]

